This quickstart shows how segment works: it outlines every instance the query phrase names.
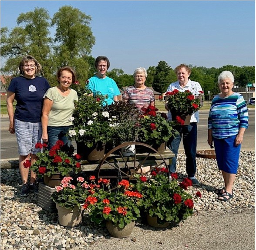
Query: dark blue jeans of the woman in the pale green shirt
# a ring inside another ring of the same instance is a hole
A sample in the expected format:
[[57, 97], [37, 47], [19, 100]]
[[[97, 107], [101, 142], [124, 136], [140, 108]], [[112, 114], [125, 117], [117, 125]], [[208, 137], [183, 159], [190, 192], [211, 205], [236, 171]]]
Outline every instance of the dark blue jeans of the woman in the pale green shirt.
[[64, 145], [71, 145], [71, 140], [68, 139], [66, 136], [69, 128], [72, 128], [73, 126], [62, 126], [62, 127], [47, 127], [47, 133], [48, 133], [48, 149], [50, 150], [58, 140], [61, 140], [64, 142]]

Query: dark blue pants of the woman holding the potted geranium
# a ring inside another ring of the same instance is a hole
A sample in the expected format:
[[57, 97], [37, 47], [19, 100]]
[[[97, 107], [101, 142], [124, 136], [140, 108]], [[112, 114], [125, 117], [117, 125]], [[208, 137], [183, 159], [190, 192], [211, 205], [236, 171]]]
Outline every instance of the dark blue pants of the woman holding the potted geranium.
[[177, 154], [182, 139], [186, 155], [186, 171], [188, 177], [194, 177], [196, 172], [197, 123], [191, 122], [190, 125], [175, 126], [175, 129], [178, 130], [179, 135], [175, 135], [175, 138], [171, 137], [167, 142], [168, 148], [175, 154], [175, 157], [172, 158], [172, 164], [169, 165], [169, 171], [170, 173], [175, 173], [176, 171]]

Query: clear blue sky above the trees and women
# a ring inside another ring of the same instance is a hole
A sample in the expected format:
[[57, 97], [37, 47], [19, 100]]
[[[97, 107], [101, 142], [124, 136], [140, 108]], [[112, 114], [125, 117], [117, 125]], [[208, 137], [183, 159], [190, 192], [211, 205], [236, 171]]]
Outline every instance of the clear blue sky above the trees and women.
[[3, 1], [1, 27], [20, 13], [44, 7], [53, 17], [70, 5], [90, 15], [96, 43], [110, 69], [132, 74], [163, 60], [207, 68], [255, 65], [255, 1]]

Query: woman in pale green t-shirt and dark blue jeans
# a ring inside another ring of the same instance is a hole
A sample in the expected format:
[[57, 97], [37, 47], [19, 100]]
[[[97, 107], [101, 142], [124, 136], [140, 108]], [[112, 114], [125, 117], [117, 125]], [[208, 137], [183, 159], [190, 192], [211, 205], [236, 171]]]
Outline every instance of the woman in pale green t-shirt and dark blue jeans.
[[57, 79], [59, 85], [48, 89], [44, 95], [42, 111], [42, 140], [48, 142], [49, 149], [58, 140], [62, 140], [64, 145], [71, 145], [66, 133], [73, 126], [74, 101], [78, 101], [77, 92], [70, 88], [76, 81], [74, 69], [62, 67], [57, 72]]

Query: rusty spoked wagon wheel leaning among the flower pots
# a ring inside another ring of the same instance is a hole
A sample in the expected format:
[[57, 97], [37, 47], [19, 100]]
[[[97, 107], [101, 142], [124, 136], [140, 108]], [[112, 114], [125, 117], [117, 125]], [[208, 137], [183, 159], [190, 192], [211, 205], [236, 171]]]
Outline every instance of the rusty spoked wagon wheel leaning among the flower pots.
[[[124, 156], [121, 148], [130, 145], [135, 145], [135, 154]], [[169, 174], [166, 160], [154, 148], [141, 142], [125, 142], [111, 149], [101, 160], [98, 165], [98, 179], [110, 179], [111, 188], [114, 189], [119, 181], [135, 180], [134, 174], [144, 176], [160, 166], [165, 167]]]

